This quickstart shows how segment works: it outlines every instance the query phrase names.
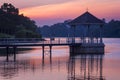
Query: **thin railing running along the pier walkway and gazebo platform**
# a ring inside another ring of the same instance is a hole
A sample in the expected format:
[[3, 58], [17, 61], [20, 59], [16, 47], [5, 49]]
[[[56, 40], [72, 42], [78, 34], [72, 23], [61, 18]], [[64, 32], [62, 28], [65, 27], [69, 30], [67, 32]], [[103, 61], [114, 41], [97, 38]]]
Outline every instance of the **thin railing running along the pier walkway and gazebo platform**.
[[98, 38], [55, 38], [51, 40], [50, 38], [0, 38], [0, 44], [10, 44], [10, 43], [36, 43], [36, 44], [71, 44], [71, 43], [83, 43], [83, 44], [99, 44], [100, 39]]

